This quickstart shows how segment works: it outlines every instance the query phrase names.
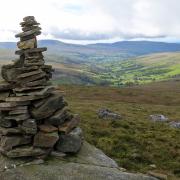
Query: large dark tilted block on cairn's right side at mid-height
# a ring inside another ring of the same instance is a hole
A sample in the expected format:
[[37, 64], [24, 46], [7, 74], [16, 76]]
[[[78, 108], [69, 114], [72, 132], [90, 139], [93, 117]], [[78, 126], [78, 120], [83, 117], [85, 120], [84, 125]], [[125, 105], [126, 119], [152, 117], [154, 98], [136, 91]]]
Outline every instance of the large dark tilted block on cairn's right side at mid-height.
[[38, 108], [32, 107], [30, 112], [34, 119], [45, 119], [52, 116], [58, 109], [64, 106], [66, 106], [66, 103], [64, 102], [63, 96], [52, 94], [43, 105]]

